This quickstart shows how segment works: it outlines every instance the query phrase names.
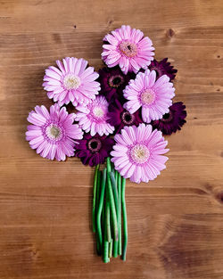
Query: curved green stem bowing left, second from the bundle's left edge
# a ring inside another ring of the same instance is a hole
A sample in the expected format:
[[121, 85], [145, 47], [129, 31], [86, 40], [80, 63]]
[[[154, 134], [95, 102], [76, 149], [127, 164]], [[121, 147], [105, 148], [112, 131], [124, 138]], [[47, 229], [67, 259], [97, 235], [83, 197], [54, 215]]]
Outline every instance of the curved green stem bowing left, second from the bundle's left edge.
[[97, 208], [97, 217], [96, 217], [96, 225], [97, 225], [97, 235], [98, 235], [98, 242], [100, 246], [100, 250], [103, 250], [103, 234], [102, 234], [102, 211], [103, 211], [103, 200], [104, 200], [104, 191], [105, 191], [105, 185], [106, 185], [106, 176], [107, 176], [107, 170], [106, 168], [103, 169], [103, 181], [101, 186], [101, 195], [100, 195], [100, 201]]

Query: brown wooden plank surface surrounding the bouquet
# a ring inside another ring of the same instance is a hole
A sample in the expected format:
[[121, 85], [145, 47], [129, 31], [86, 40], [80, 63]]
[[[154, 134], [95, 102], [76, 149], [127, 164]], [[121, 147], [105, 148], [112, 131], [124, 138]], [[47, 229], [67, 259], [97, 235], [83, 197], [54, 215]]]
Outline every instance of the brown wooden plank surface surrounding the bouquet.
[[[128, 260], [103, 264], [90, 229], [93, 169], [44, 160], [26, 117], [49, 107], [44, 70], [65, 56], [96, 69], [103, 36], [142, 29], [178, 68], [187, 124], [167, 170], [128, 182]], [[223, 1], [0, 0], [0, 278], [223, 278]]]

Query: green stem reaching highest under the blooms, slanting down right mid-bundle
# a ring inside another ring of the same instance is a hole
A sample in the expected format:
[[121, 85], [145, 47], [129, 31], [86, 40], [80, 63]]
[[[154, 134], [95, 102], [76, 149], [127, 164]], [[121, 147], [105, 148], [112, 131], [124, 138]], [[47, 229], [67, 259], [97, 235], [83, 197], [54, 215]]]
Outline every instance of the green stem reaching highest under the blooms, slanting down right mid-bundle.
[[[111, 173], [111, 160], [108, 157], [107, 158], [108, 192], [109, 192], [110, 206], [111, 206], [111, 218], [112, 218], [112, 228], [113, 228], [113, 242], [114, 242], [114, 247], [116, 247], [118, 245], [118, 241], [119, 241], [119, 229], [118, 229], [118, 223], [117, 223], [117, 215], [116, 215], [113, 191], [112, 191], [112, 186], [111, 186], [110, 173]], [[113, 250], [113, 256], [114, 256], [114, 258], [116, 258], [118, 256], [118, 250]]]

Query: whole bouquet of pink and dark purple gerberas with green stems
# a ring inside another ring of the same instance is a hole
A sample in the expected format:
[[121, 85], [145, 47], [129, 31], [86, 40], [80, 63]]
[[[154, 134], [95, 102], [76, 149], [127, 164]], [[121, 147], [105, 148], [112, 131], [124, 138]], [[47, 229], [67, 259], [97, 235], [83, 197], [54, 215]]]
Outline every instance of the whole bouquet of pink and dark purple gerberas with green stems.
[[177, 70], [153, 56], [151, 39], [123, 25], [103, 38], [106, 67], [98, 73], [74, 57], [46, 69], [43, 86], [54, 104], [29, 112], [26, 139], [37, 154], [95, 166], [93, 232], [104, 262], [126, 259], [126, 179], [148, 183], [160, 175], [169, 151], [163, 135], [186, 123], [185, 105], [172, 103]]

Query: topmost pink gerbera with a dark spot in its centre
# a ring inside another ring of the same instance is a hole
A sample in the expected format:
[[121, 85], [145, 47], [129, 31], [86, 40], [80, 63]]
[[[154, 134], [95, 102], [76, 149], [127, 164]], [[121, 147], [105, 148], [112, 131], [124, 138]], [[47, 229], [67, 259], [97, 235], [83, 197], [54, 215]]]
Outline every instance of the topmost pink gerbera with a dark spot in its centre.
[[109, 68], [120, 65], [125, 74], [128, 71], [137, 73], [140, 68], [147, 69], [153, 61], [153, 43], [138, 29], [122, 25], [107, 34], [103, 41], [102, 58]]

